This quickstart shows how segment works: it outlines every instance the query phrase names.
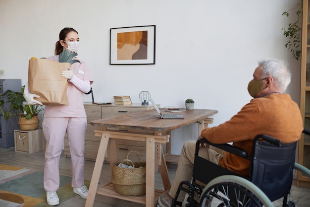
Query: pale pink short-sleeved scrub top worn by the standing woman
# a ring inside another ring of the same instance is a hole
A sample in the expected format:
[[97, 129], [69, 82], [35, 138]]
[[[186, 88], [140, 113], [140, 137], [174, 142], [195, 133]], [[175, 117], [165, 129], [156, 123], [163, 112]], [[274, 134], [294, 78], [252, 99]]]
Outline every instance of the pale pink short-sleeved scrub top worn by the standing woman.
[[[58, 62], [59, 55], [48, 58], [49, 60]], [[92, 81], [90, 70], [86, 64], [79, 60], [81, 63], [74, 63], [71, 66], [73, 74], [79, 79], [74, 80], [75, 84], [83, 81]], [[46, 105], [44, 110], [44, 117], [86, 117], [84, 109], [84, 92], [79, 90], [72, 82], [75, 77], [68, 81], [67, 96], [69, 105], [51, 106]], [[86, 91], [88, 92], [88, 91]]]

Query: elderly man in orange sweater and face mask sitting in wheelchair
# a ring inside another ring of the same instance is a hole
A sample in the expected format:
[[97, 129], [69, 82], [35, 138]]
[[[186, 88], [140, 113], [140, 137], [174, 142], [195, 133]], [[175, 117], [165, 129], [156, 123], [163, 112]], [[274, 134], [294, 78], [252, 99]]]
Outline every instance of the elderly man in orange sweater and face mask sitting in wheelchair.
[[[258, 62], [249, 82], [248, 91], [254, 98], [229, 121], [213, 128], [206, 128], [199, 138], [204, 137], [213, 143], [233, 142], [251, 153], [253, 138], [258, 134], [269, 135], [290, 143], [301, 138], [303, 121], [298, 105], [285, 94], [291, 81], [291, 73], [284, 63], [278, 60]], [[191, 180], [195, 154], [195, 141], [187, 141], [179, 158], [175, 178], [167, 194], [158, 198], [158, 207], [170, 207], [179, 183]], [[203, 146], [202, 146], [203, 147]], [[250, 161], [234, 154], [218, 153], [209, 147], [199, 151], [200, 156], [231, 171], [247, 176]], [[203, 166], [202, 166], [203, 167]], [[182, 206], [185, 193], [181, 191], [177, 205]]]

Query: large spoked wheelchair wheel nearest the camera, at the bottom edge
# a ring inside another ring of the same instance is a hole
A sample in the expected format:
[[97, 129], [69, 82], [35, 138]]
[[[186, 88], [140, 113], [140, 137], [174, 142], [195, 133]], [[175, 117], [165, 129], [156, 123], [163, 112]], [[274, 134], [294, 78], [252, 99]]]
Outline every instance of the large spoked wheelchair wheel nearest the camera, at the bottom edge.
[[200, 197], [199, 207], [274, 207], [268, 197], [250, 181], [223, 175], [211, 180]]

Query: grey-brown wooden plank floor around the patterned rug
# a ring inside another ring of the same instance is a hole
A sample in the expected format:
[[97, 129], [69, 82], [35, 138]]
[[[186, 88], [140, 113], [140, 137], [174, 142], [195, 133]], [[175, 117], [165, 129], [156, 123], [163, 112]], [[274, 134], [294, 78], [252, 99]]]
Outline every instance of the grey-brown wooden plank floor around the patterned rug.
[[[36, 152], [32, 154], [15, 152], [14, 147], [3, 148], [0, 147], [0, 164], [12, 165], [17, 167], [23, 167], [32, 170], [43, 171], [44, 170], [44, 151]], [[93, 161], [85, 161], [85, 170], [84, 177], [87, 180], [91, 180], [93, 169], [95, 162]], [[168, 171], [170, 181], [173, 181], [174, 173], [176, 170], [175, 164], [168, 164]], [[59, 173], [60, 175], [72, 176], [71, 173], [71, 159], [65, 158], [64, 155], [61, 155], [60, 163], [59, 163]], [[103, 164], [103, 170], [100, 177], [101, 183], [106, 183], [110, 181], [110, 170], [109, 164]], [[161, 184], [160, 173], [155, 174], [155, 188], [159, 190], [163, 190], [163, 186]], [[302, 188], [294, 189], [293, 193], [298, 193], [298, 191], [302, 190]], [[301, 207], [309, 207], [310, 206], [310, 194], [309, 189], [307, 189], [307, 196], [304, 198], [305, 206]], [[300, 194], [300, 193], [299, 193]], [[308, 196], [309, 195], [309, 196]], [[305, 200], [306, 199], [306, 200]], [[67, 201], [59, 204], [57, 207], [85, 207], [85, 199], [82, 199], [80, 196], [76, 195]], [[184, 202], [185, 203], [185, 202]], [[279, 204], [274, 203], [275, 207], [281, 206]], [[119, 199], [114, 199], [102, 195], [96, 195], [94, 207], [145, 207], [143, 204], [123, 201]]]

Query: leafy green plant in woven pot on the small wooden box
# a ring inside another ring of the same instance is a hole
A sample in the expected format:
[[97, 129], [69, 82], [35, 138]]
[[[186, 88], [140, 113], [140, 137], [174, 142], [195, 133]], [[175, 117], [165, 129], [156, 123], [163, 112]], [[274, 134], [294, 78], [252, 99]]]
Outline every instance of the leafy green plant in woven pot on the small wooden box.
[[[23, 96], [24, 89], [25, 85], [21, 87], [20, 92], [7, 90], [0, 95], [0, 113], [5, 120], [12, 121], [13, 117], [19, 117], [18, 125], [21, 130], [35, 130], [40, 123], [38, 114], [44, 110], [44, 107], [28, 105]], [[10, 105], [9, 109], [6, 107], [7, 103]]]

